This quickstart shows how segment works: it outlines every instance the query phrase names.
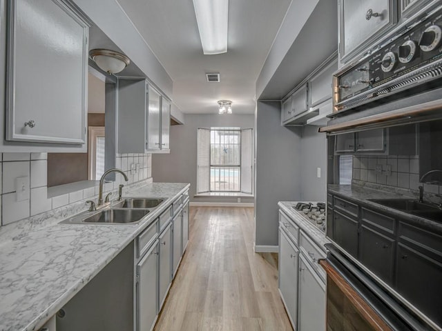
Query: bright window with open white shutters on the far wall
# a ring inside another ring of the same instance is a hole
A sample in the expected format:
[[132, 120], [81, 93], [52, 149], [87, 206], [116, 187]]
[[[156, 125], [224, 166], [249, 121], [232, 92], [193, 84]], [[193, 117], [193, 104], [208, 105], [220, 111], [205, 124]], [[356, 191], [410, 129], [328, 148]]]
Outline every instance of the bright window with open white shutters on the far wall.
[[198, 129], [197, 193], [252, 193], [252, 134], [252, 129]]

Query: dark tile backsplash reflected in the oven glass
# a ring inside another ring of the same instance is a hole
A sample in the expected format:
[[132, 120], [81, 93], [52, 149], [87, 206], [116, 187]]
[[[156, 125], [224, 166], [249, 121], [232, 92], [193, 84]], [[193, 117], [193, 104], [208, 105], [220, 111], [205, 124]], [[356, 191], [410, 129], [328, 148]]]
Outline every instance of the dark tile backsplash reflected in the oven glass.
[[[419, 156], [354, 156], [353, 179], [394, 188], [418, 190]], [[439, 185], [424, 184], [425, 192], [442, 192]]]

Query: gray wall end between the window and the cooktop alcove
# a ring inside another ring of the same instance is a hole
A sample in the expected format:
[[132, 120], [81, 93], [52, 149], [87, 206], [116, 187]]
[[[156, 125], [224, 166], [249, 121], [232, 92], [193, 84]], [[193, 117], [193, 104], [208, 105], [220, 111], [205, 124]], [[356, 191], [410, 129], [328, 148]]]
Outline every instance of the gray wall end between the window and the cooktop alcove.
[[280, 103], [256, 108], [256, 245], [278, 245], [278, 201], [300, 194], [300, 128], [280, 125]]

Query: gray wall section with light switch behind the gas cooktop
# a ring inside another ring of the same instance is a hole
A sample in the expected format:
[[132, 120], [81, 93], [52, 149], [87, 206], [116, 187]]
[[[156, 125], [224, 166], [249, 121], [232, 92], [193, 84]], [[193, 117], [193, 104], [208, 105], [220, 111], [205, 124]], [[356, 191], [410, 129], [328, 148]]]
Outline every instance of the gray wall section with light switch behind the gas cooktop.
[[[327, 183], [327, 139], [317, 126], [302, 128], [300, 141], [300, 199], [325, 201]], [[320, 178], [317, 170], [320, 168]]]

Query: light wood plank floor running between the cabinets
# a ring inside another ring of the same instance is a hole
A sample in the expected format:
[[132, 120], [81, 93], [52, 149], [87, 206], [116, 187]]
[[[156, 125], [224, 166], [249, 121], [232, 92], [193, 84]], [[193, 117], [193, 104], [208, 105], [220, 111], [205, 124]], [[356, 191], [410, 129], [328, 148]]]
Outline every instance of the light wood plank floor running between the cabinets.
[[253, 208], [193, 207], [189, 245], [154, 330], [293, 330], [276, 254], [253, 252]]

